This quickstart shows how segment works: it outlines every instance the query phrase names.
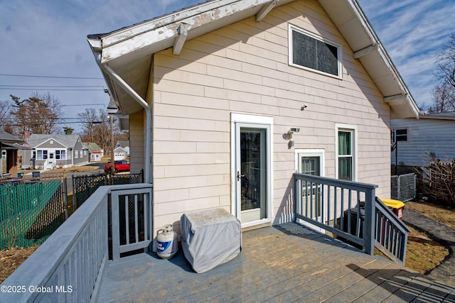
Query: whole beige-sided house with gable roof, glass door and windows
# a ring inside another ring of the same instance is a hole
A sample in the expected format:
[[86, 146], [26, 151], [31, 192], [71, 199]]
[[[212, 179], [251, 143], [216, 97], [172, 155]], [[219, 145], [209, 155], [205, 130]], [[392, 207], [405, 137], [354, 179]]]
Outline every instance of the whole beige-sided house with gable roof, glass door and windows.
[[155, 230], [216, 207], [290, 221], [296, 171], [390, 197], [390, 119], [419, 109], [356, 1], [214, 0], [88, 41]]

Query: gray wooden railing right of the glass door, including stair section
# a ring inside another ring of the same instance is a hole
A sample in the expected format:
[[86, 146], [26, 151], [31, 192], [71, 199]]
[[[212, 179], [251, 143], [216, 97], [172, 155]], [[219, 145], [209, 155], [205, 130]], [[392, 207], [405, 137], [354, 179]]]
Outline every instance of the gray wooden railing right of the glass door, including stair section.
[[[405, 262], [409, 230], [392, 214], [390, 209], [375, 197], [376, 185], [299, 173], [294, 174], [294, 178], [294, 184], [298, 187], [294, 189], [295, 192], [304, 191], [294, 196], [297, 219], [363, 246], [365, 253], [373, 254], [374, 246], [382, 247], [387, 249], [387, 255], [399, 258], [402, 263]], [[303, 184], [303, 182], [305, 183]], [[353, 191], [356, 192], [355, 196], [353, 196]], [[356, 199], [357, 214], [355, 216], [352, 214], [353, 197]], [[347, 202], [346, 199], [348, 199]], [[365, 201], [365, 206], [360, 205], [360, 202], [363, 201]], [[363, 207], [365, 208], [364, 219], [361, 214]], [[332, 213], [333, 216], [331, 216]], [[317, 219], [318, 217], [321, 219]], [[355, 228], [351, 226], [351, 219], [353, 222], [355, 219]], [[360, 238], [360, 233], [362, 233], [362, 238]], [[382, 248], [380, 249], [382, 250]], [[382, 251], [384, 252], [384, 250]]]

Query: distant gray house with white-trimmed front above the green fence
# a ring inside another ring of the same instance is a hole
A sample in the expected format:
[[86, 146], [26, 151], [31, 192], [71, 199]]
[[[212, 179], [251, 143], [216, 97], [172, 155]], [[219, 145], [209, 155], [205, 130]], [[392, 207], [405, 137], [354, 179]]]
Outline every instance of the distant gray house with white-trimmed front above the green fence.
[[82, 145], [78, 135], [34, 133], [26, 138], [26, 142], [33, 150], [24, 150], [22, 168], [52, 170], [89, 162], [88, 148]]

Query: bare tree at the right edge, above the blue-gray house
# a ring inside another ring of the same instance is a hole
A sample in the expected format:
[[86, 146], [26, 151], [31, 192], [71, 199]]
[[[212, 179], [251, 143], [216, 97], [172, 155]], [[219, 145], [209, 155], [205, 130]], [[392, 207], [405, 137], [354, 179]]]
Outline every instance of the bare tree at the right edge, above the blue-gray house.
[[455, 111], [455, 33], [450, 35], [449, 42], [444, 43], [436, 55], [434, 77], [437, 84], [433, 89], [434, 106], [430, 111]]

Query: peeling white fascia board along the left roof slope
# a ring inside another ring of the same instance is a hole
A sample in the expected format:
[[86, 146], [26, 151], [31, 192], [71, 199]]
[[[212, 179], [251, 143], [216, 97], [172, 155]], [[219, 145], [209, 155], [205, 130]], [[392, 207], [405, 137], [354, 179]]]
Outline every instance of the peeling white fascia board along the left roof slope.
[[[102, 37], [102, 63], [144, 48], [149, 48], [147, 53], [156, 53], [159, 50], [171, 47], [178, 36], [177, 29], [181, 23], [188, 25], [189, 35], [189, 32], [196, 28], [268, 2], [270, 0], [210, 1], [207, 4], [200, 4], [190, 9], [177, 11], [161, 18], [152, 19], [151, 21], [113, 32]], [[169, 40], [169, 42], [163, 43], [166, 40]]]

